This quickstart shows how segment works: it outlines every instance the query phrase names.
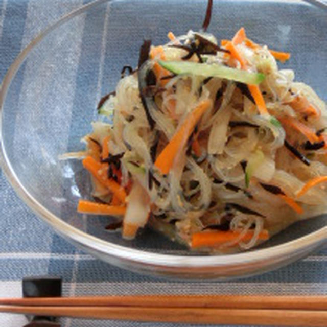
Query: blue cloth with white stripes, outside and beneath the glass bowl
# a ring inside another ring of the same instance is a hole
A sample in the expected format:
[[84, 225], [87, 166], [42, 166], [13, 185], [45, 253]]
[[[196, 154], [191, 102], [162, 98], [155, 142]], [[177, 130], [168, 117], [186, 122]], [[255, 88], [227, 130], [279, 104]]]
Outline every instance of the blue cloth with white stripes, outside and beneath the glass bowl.
[[[33, 36], [82, 0], [0, 0], [0, 80]], [[0, 172], [0, 297], [21, 296], [29, 275], [59, 275], [64, 295], [86, 294], [325, 294], [327, 250], [260, 276], [229, 283], [168, 282], [121, 270], [80, 252], [42, 223], [15, 195]], [[25, 318], [0, 314], [0, 325]], [[170, 326], [173, 324], [63, 319], [62, 326]]]

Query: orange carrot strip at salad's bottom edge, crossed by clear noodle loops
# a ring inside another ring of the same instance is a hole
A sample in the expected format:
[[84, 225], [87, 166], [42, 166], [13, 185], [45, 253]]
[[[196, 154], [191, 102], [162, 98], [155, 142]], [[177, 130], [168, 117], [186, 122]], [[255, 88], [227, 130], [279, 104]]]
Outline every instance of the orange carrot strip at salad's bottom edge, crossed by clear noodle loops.
[[[231, 242], [239, 237], [239, 232], [237, 231], [200, 231], [192, 235], [192, 248], [198, 247], [215, 247], [219, 246], [225, 242]], [[248, 230], [244, 237], [240, 240], [243, 242], [250, 241], [253, 237], [253, 230]], [[266, 241], [269, 239], [269, 233], [266, 229], [259, 233], [259, 240]]]

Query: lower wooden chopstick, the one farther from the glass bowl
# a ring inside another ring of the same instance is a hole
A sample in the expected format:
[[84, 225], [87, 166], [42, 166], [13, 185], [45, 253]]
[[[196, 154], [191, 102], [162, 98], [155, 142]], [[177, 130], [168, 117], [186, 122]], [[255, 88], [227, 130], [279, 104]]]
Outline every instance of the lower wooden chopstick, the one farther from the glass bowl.
[[327, 311], [146, 307], [0, 306], [0, 312], [194, 324], [326, 327]]

